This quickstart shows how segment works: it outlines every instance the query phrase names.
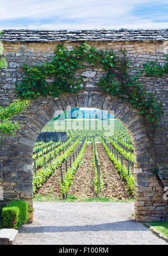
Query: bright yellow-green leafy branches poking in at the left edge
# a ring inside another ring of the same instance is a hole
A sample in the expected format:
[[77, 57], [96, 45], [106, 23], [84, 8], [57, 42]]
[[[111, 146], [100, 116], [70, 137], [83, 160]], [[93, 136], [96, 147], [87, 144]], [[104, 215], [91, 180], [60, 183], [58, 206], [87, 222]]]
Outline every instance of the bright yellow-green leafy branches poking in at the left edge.
[[[0, 31], [0, 39], [2, 32]], [[7, 68], [7, 62], [5, 58], [1, 58], [3, 54], [3, 45], [0, 41], [0, 69]], [[0, 106], [0, 133], [2, 134], [14, 134], [14, 131], [19, 128], [18, 122], [14, 123], [10, 118], [14, 117], [18, 113], [21, 113], [26, 106], [29, 105], [27, 100], [15, 100], [7, 108]]]

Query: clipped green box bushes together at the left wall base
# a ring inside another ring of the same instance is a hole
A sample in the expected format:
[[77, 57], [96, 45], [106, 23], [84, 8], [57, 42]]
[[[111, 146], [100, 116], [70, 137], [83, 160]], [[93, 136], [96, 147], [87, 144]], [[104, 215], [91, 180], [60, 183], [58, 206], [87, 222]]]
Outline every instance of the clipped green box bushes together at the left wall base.
[[2, 225], [10, 229], [18, 229], [27, 221], [28, 204], [25, 201], [13, 201], [2, 209]]

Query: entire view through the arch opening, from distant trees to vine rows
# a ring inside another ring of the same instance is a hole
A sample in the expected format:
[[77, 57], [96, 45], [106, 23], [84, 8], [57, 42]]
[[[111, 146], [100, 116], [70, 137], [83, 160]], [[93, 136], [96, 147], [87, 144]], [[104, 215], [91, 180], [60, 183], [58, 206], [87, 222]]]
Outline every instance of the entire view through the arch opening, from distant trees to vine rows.
[[[41, 179], [46, 171], [47, 175], [48, 171], [52, 175], [46, 177], [49, 179], [45, 183], [42, 180], [34, 184], [35, 199], [65, 199], [63, 186], [69, 181], [66, 175], [69, 173], [72, 184], [66, 188], [66, 199], [73, 198], [73, 202], [132, 201], [133, 145], [122, 123], [96, 108], [68, 108], [62, 113], [56, 111], [55, 115], [42, 129], [34, 148], [34, 179], [37, 175]], [[82, 161], [78, 162], [78, 149], [84, 141], [87, 144]], [[58, 161], [61, 161], [60, 166]], [[71, 168], [76, 165], [72, 172]]]

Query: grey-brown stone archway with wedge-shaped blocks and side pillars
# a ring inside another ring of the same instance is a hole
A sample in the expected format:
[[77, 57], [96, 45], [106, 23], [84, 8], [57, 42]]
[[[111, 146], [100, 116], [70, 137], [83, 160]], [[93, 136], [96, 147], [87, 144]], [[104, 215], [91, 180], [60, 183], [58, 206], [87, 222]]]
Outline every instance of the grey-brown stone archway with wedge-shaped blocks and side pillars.
[[[126, 101], [103, 94], [99, 89], [81, 91], [78, 95], [64, 95], [59, 99], [31, 100], [16, 119], [20, 129], [15, 137], [4, 136], [1, 143], [1, 183], [4, 200], [21, 198], [29, 203], [29, 221], [32, 221], [32, 151], [41, 129], [54, 117], [56, 110], [71, 108], [97, 108], [114, 110], [114, 116], [127, 127], [134, 145], [134, 197], [137, 221], [165, 218], [164, 202], [160, 187], [152, 175], [152, 154], [143, 122], [137, 110]], [[159, 193], [156, 193], [156, 190]], [[158, 202], [162, 207], [158, 208]]]

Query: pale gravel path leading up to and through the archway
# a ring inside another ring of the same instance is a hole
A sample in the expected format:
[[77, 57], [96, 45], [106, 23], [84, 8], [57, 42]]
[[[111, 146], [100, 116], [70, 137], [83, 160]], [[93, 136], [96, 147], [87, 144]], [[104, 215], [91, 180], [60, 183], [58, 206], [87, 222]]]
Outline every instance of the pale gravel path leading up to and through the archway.
[[34, 209], [16, 244], [167, 244], [130, 217], [134, 203], [34, 202]]

